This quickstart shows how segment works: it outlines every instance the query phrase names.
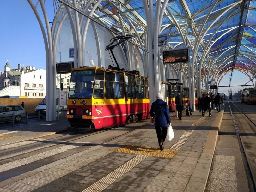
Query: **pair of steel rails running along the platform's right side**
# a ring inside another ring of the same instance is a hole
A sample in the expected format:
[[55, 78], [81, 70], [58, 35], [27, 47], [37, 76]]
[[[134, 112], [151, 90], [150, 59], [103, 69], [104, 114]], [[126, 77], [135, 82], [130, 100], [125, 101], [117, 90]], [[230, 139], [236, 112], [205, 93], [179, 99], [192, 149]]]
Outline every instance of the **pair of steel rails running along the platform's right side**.
[[[237, 107], [233, 102], [231, 102], [235, 107]], [[228, 104], [229, 104], [229, 100], [228, 100]], [[238, 108], [238, 107], [237, 107]], [[242, 141], [241, 141], [241, 138], [240, 138], [240, 135], [239, 135], [239, 131], [237, 129], [237, 126], [236, 126], [236, 122], [235, 122], [235, 117], [233, 116], [233, 113], [232, 113], [232, 110], [231, 110], [231, 107], [230, 107], [230, 104], [229, 104], [229, 109], [230, 109], [230, 114], [232, 116], [232, 119], [233, 119], [233, 122], [234, 122], [234, 127], [235, 127], [235, 132], [236, 132], [236, 136], [237, 136], [237, 140], [238, 140], [238, 144], [239, 144], [239, 148], [240, 148], [240, 151], [241, 151], [241, 156], [242, 156], [242, 159], [243, 159], [243, 164], [244, 164], [244, 168], [245, 168], [245, 171], [246, 171], [246, 176], [247, 176], [247, 181], [248, 181], [248, 185], [249, 185], [249, 189], [250, 191], [256, 191], [256, 187], [255, 187], [255, 183], [253, 181], [253, 175], [252, 175], [252, 172], [251, 172], [251, 169], [249, 167], [249, 164], [248, 164], [248, 161], [247, 161], [247, 157], [246, 157], [246, 154], [245, 154], [245, 151], [244, 151], [244, 147], [243, 147], [243, 144], [242, 144]], [[240, 109], [239, 109], [240, 110]], [[241, 111], [241, 110], [240, 110]], [[243, 112], [242, 112], [243, 113]], [[243, 113], [244, 114], [244, 113]], [[245, 114], [244, 114], [245, 115]], [[247, 115], [245, 115], [247, 117]], [[248, 118], [248, 117], [247, 117]], [[249, 119], [250, 120], [250, 119]], [[251, 121], [251, 120], [250, 120]]]

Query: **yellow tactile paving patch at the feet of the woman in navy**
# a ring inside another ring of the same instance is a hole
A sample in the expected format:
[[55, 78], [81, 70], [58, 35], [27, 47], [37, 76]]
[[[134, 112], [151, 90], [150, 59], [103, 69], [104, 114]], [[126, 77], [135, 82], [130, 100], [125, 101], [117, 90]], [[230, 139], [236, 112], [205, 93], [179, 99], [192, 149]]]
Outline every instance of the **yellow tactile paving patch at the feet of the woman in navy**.
[[161, 151], [159, 148], [155, 148], [155, 147], [126, 145], [122, 148], [117, 149], [116, 152], [133, 153], [133, 154], [148, 155], [148, 156], [172, 159], [176, 155], [176, 153], [179, 152], [179, 150], [164, 149]]

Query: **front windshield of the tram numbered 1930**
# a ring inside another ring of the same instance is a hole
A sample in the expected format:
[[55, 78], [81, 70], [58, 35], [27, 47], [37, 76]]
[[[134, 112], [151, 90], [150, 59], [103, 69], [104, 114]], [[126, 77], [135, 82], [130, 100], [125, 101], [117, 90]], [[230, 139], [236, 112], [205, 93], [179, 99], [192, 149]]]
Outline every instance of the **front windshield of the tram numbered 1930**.
[[93, 92], [95, 70], [72, 71], [69, 98], [91, 98]]

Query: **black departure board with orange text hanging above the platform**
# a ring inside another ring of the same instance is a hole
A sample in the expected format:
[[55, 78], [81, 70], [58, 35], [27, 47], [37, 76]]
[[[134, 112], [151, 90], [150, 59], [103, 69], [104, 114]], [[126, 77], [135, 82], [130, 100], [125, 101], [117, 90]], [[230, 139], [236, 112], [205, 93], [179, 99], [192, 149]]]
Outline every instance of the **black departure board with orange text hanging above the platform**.
[[171, 49], [163, 51], [163, 64], [172, 63], [187, 63], [189, 62], [189, 50], [188, 48]]

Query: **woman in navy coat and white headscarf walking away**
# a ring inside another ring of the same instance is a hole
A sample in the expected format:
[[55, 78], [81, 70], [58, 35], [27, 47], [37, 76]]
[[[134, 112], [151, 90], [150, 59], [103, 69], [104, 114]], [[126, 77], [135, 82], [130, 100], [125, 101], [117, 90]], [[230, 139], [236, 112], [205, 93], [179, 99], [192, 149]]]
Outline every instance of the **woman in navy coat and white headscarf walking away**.
[[163, 95], [158, 93], [155, 102], [152, 103], [149, 114], [155, 116], [155, 131], [160, 150], [164, 149], [163, 143], [167, 134], [167, 127], [171, 124], [171, 117], [166, 102], [162, 100]]

